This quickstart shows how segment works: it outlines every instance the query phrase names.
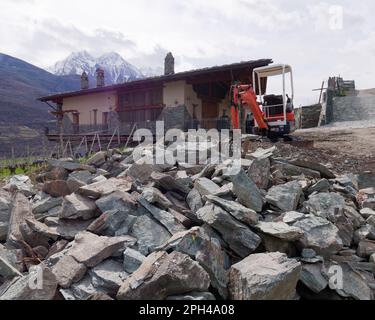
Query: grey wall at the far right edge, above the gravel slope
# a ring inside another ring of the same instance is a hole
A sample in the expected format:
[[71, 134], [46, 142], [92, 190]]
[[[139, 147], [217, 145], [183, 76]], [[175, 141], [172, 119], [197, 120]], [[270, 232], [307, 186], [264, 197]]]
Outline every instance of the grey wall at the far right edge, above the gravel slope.
[[332, 121], [375, 119], [375, 96], [349, 96], [333, 98]]

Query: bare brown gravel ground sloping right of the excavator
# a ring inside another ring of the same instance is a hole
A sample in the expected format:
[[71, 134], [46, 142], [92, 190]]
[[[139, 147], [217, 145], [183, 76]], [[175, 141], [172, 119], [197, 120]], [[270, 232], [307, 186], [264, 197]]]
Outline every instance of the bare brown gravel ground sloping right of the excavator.
[[320, 162], [337, 174], [375, 173], [375, 121], [333, 123], [329, 126], [296, 131], [298, 140], [313, 146], [268, 140], [254, 142], [251, 150], [276, 145], [280, 157], [299, 157]]

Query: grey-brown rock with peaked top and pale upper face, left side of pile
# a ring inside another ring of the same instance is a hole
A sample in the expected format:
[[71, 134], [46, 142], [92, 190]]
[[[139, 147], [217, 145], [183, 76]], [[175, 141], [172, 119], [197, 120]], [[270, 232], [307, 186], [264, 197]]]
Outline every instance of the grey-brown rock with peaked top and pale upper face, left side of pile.
[[61, 219], [90, 220], [97, 216], [97, 213], [94, 200], [73, 193], [64, 198], [59, 217]]

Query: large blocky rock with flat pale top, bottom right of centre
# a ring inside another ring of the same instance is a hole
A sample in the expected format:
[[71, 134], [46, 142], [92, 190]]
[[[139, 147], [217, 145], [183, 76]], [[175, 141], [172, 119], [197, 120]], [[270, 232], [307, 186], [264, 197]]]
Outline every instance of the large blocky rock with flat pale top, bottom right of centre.
[[292, 300], [301, 264], [285, 254], [253, 254], [233, 265], [229, 292], [233, 300]]

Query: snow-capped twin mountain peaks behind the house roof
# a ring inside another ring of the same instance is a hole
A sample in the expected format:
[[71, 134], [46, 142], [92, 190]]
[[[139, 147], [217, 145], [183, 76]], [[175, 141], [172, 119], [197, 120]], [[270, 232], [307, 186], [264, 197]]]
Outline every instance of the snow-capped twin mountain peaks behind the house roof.
[[93, 86], [98, 67], [104, 70], [106, 84], [123, 83], [145, 77], [140, 70], [116, 52], [106, 53], [98, 58], [91, 56], [87, 51], [73, 52], [50, 70], [56, 75], [81, 75], [85, 71]]

